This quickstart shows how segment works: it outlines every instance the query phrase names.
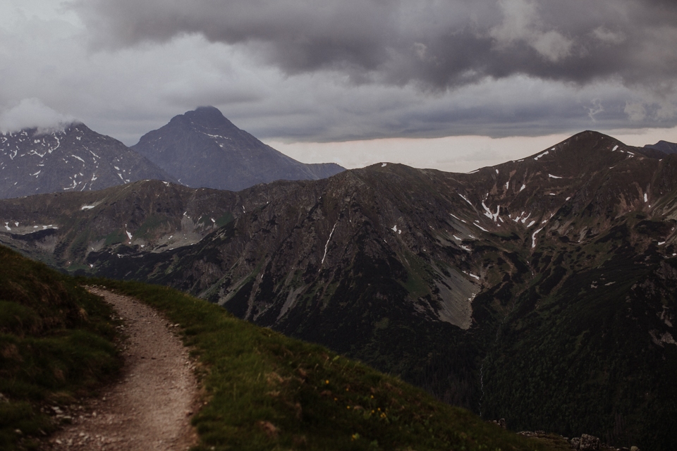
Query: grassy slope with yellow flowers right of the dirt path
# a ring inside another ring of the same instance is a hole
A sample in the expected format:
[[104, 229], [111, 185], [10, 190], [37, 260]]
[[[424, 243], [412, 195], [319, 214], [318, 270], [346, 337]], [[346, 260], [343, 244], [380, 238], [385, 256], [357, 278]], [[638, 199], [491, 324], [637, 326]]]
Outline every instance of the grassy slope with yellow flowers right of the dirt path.
[[180, 323], [202, 362], [199, 450], [542, 450], [474, 414], [319, 345], [176, 290], [90, 280]]

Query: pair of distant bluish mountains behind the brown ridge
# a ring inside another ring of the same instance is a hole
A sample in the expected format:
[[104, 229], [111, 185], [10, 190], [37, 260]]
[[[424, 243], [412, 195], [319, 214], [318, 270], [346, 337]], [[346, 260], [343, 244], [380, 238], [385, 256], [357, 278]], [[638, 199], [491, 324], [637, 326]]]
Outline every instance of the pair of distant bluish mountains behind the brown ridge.
[[138, 180], [242, 190], [274, 180], [317, 180], [336, 163], [300, 163], [240, 130], [213, 106], [176, 116], [138, 144], [73, 123], [0, 135], [0, 198], [102, 190]]

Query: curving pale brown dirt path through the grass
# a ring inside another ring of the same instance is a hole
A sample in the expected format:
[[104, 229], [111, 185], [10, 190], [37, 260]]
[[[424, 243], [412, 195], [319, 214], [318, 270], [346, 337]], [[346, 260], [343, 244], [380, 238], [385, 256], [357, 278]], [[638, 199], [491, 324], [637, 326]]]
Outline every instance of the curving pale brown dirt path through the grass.
[[125, 319], [129, 337], [119, 383], [81, 410], [50, 440], [51, 450], [187, 450], [197, 383], [188, 351], [171, 325], [137, 300], [91, 288]]

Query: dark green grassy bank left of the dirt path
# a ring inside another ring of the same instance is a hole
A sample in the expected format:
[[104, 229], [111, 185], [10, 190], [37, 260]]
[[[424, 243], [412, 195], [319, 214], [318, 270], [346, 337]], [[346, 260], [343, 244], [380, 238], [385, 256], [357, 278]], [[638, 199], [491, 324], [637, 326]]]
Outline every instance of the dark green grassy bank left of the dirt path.
[[6, 247], [0, 261], [0, 448], [31, 448], [55, 427], [41, 410], [91, 395], [121, 359], [98, 297]]

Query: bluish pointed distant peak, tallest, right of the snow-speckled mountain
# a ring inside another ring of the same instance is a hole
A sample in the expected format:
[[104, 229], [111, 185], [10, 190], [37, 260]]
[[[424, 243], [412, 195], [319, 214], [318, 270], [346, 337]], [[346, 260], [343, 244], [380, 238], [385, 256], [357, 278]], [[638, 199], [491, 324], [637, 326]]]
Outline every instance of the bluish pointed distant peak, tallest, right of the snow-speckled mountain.
[[190, 187], [239, 191], [274, 180], [317, 180], [344, 170], [335, 163], [305, 164], [281, 154], [213, 106], [173, 117], [132, 148]]

